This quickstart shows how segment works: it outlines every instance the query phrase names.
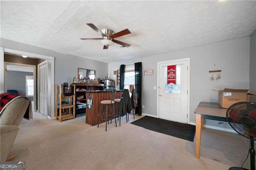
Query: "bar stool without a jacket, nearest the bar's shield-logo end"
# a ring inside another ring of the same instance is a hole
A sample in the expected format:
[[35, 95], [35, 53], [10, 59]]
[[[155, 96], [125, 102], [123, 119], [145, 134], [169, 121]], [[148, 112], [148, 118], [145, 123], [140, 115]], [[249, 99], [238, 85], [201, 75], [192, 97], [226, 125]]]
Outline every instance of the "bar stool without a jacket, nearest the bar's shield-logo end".
[[[99, 119], [98, 119], [98, 127], [99, 127], [99, 124], [100, 124], [100, 119], [101, 120], [105, 120], [106, 121], [106, 131], [107, 131], [107, 122], [109, 120], [112, 120], [113, 118], [115, 118], [115, 121], [116, 121], [116, 115], [115, 115], [115, 108], [114, 108], [114, 99], [116, 97], [116, 89], [112, 89], [111, 90], [111, 100], [103, 100], [100, 102], [100, 115], [99, 115]], [[112, 106], [112, 114], [108, 114], [108, 106]], [[106, 106], [106, 115], [101, 113], [102, 111], [102, 106]], [[117, 127], [117, 126], [116, 126]]]

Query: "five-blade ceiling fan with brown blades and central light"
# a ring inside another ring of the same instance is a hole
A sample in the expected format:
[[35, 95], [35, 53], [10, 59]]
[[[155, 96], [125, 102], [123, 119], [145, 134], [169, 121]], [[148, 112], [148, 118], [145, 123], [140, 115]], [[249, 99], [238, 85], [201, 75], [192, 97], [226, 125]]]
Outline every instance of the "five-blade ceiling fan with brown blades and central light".
[[87, 24], [90, 28], [94, 29], [96, 32], [100, 33], [102, 38], [80, 38], [81, 40], [101, 40], [101, 43], [104, 45], [103, 49], [108, 49], [109, 45], [114, 45], [114, 43], [118, 43], [122, 45], [122, 47], [130, 47], [130, 44], [120, 42], [115, 40], [114, 38], [124, 36], [126, 34], [130, 34], [131, 32], [128, 29], [122, 30], [115, 34], [114, 31], [110, 29], [99, 30], [94, 24]]

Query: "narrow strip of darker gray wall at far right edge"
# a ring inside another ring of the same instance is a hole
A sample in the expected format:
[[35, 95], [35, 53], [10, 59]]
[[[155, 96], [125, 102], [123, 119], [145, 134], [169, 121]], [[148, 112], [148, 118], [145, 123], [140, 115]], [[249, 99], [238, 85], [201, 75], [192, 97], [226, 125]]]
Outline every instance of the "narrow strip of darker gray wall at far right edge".
[[[250, 93], [256, 94], [256, 30], [250, 36]], [[256, 96], [250, 96], [256, 103]]]

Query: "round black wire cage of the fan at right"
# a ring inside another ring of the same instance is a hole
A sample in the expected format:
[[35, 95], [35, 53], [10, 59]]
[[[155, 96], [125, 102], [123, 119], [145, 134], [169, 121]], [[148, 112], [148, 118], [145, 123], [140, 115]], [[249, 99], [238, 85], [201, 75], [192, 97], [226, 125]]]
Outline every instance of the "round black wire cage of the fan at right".
[[[228, 124], [242, 136], [256, 140], [256, 103], [238, 102], [231, 105], [227, 112], [226, 118]], [[242, 119], [250, 120], [252, 127], [248, 127], [242, 123]]]

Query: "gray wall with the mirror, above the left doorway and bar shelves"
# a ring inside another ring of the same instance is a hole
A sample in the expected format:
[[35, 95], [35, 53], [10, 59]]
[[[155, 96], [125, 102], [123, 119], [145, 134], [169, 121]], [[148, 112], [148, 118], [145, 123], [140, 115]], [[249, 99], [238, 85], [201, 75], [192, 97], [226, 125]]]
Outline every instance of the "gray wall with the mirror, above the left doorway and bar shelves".
[[[61, 84], [64, 82], [72, 83], [73, 78], [78, 75], [78, 68], [92, 69], [96, 71], [96, 78], [103, 79], [108, 73], [108, 63], [94, 61], [83, 57], [78, 57], [70, 54], [58, 53], [56, 51], [28, 45], [20, 42], [6, 40], [0, 38], [1, 47], [15, 49], [18, 51], [25, 51], [40, 55], [46, 55], [55, 58], [54, 65], [54, 84]], [[54, 88], [55, 94], [55, 88]], [[55, 101], [55, 98], [54, 98]], [[55, 103], [55, 102], [54, 102]], [[49, 116], [54, 113], [49, 113]]]

